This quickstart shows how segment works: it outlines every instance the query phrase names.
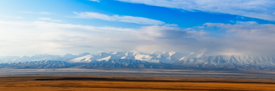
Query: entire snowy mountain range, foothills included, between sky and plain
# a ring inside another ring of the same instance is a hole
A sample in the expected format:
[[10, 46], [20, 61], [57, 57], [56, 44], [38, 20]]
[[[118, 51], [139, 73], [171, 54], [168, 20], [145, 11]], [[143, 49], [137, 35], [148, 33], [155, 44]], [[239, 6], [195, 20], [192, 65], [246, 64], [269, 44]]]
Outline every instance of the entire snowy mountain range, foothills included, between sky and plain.
[[[54, 60], [54, 61], [48, 61]], [[37, 68], [155, 68], [181, 69], [222, 68], [222, 69], [261, 69], [274, 71], [275, 56], [228, 55], [203, 56], [203, 53], [179, 52], [101, 52], [79, 55], [35, 55], [0, 56], [0, 68], [37, 69]]]

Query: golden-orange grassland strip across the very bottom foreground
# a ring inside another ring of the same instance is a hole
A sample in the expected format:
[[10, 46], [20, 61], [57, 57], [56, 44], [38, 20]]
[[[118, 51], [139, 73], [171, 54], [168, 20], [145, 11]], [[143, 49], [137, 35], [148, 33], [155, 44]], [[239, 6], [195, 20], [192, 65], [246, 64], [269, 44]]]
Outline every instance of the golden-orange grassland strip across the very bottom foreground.
[[0, 91], [275, 91], [273, 79], [160, 76], [0, 76]]

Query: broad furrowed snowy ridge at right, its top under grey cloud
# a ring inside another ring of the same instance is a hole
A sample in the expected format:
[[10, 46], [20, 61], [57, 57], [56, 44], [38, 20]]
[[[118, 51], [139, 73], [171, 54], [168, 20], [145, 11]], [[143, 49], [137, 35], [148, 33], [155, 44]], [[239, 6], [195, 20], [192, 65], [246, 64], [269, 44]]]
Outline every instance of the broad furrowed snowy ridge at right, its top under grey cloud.
[[228, 55], [187, 58], [172, 63], [175, 66], [198, 68], [255, 68], [274, 69], [275, 56]]

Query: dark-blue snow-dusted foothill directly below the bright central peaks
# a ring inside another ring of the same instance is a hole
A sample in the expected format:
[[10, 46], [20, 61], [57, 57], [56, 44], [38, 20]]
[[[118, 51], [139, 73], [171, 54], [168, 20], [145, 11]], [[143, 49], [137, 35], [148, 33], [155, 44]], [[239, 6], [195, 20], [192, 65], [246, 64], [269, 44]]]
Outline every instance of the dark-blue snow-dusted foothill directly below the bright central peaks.
[[109, 59], [88, 63], [81, 68], [155, 68], [167, 69], [165, 64], [157, 64], [136, 59]]

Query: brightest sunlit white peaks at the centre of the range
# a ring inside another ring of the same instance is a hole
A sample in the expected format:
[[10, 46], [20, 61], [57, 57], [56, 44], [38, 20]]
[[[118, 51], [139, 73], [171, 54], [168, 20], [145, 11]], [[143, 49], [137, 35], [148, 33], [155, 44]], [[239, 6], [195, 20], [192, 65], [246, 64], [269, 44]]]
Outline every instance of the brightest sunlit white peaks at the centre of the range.
[[86, 55], [83, 57], [75, 58], [68, 60], [68, 62], [82, 62], [82, 63], [90, 63], [90, 62], [97, 62], [102, 60], [108, 59], [137, 59], [143, 60], [146, 62], [153, 62], [153, 63], [173, 63], [178, 61], [179, 59], [183, 59], [186, 56], [190, 56], [190, 54], [182, 54], [179, 52], [138, 52], [138, 51], [127, 51], [127, 52], [101, 52]]

